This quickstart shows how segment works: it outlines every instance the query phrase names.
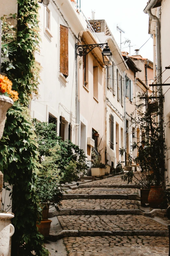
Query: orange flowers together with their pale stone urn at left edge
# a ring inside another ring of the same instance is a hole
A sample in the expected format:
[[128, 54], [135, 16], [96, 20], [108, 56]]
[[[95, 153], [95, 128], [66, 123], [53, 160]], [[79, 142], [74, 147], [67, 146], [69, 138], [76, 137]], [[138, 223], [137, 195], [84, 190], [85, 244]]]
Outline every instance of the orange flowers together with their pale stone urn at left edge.
[[7, 110], [18, 100], [18, 93], [12, 90], [12, 82], [0, 74], [0, 139], [4, 132]]

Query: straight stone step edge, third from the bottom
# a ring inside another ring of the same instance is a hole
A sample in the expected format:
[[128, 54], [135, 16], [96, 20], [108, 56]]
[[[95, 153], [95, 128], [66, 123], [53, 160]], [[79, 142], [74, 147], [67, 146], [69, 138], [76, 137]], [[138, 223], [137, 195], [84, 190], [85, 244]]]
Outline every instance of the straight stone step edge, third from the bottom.
[[137, 194], [64, 194], [62, 200], [70, 199], [129, 199], [129, 200], [138, 200], [140, 196]]

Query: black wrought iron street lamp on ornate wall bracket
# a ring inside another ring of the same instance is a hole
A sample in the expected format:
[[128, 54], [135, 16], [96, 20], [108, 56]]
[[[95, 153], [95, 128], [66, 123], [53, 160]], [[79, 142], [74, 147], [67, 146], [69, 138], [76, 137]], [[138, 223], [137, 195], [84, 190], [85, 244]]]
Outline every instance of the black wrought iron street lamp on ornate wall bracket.
[[[105, 44], [106, 44], [106, 47], [103, 49]], [[77, 56], [82, 57], [83, 55], [87, 55], [95, 47], [100, 47], [101, 49], [103, 49], [103, 52], [102, 52], [103, 62], [105, 63], [106, 66], [108, 66], [112, 57], [112, 53], [107, 43], [94, 43], [94, 44], [82, 44], [82, 45], [76, 44], [76, 57]], [[106, 59], [106, 57], [108, 57], [108, 60]]]

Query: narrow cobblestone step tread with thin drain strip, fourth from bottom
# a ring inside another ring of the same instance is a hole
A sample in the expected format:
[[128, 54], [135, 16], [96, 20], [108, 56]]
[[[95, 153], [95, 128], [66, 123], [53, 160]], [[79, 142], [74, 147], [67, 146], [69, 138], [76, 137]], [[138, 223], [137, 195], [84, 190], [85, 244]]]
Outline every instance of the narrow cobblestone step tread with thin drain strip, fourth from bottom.
[[[91, 183], [90, 183], [91, 184]], [[136, 188], [78, 188], [68, 191], [69, 194], [137, 194]]]

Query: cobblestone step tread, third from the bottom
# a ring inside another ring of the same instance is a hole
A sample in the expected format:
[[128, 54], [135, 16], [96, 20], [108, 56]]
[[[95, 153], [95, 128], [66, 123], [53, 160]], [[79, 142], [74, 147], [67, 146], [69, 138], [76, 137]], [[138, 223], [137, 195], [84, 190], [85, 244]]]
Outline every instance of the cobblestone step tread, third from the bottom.
[[60, 209], [139, 209], [137, 200], [70, 199], [61, 203]]

